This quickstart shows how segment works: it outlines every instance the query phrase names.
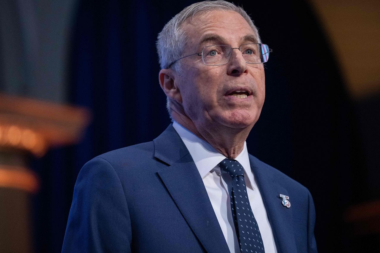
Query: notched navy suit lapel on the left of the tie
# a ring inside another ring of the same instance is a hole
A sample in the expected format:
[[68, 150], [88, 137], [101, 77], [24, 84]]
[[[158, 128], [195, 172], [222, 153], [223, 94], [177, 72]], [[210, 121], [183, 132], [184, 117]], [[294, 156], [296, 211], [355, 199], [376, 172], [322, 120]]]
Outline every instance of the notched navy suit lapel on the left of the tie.
[[207, 252], [229, 252], [198, 169], [173, 126], [154, 140], [155, 157], [169, 166], [158, 176]]

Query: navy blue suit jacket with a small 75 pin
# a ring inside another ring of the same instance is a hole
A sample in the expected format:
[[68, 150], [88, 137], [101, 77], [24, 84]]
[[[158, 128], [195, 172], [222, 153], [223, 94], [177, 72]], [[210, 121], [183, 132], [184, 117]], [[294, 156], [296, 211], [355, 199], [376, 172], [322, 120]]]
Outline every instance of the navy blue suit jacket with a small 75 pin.
[[[309, 191], [249, 155], [278, 252], [316, 252]], [[279, 194], [290, 197], [284, 207]], [[152, 142], [86, 163], [62, 252], [230, 252], [203, 181], [170, 125]]]

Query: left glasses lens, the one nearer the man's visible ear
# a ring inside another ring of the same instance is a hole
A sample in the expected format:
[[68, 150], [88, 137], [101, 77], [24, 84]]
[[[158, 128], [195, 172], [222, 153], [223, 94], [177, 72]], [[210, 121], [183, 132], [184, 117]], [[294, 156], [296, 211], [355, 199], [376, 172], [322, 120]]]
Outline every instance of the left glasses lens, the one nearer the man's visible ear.
[[228, 62], [231, 47], [226, 45], [207, 46], [202, 49], [202, 59], [205, 65], [223, 65]]

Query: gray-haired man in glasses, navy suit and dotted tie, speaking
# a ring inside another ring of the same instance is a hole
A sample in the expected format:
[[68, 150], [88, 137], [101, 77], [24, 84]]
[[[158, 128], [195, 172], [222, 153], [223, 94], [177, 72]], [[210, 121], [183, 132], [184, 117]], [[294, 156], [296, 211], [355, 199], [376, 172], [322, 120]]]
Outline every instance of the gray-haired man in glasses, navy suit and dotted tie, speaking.
[[309, 191], [247, 152], [269, 55], [249, 16], [195, 3], [157, 48], [173, 125], [84, 165], [62, 251], [316, 252]]

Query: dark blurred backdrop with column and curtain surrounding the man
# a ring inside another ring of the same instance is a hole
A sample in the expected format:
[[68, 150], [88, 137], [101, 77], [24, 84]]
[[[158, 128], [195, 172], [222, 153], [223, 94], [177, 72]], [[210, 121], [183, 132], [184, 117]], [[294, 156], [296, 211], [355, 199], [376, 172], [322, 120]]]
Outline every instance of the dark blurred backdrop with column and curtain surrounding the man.
[[[84, 163], [165, 130], [155, 40], [194, 2], [0, 1], [0, 252], [60, 252]], [[378, 251], [380, 3], [235, 3], [273, 49], [249, 152], [310, 190], [320, 252]]]

